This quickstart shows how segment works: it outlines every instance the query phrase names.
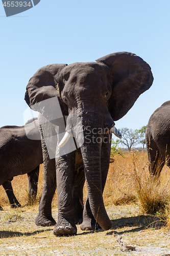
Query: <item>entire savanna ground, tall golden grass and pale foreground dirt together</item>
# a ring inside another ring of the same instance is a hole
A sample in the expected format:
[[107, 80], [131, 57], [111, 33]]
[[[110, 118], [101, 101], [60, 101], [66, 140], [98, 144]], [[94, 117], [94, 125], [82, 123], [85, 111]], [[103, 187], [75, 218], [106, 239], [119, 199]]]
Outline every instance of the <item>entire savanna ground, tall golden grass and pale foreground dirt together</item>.
[[[55, 237], [53, 227], [34, 224], [43, 185], [43, 166], [38, 184], [37, 202], [27, 205], [27, 175], [12, 181], [14, 194], [22, 207], [11, 209], [0, 187], [0, 255], [170, 255], [169, 195], [170, 172], [164, 166], [160, 179], [153, 183], [146, 152], [117, 155], [110, 163], [104, 202], [112, 229], [82, 231], [73, 237]], [[84, 187], [84, 200], [87, 196]], [[57, 192], [53, 200], [57, 220]], [[135, 251], [121, 251], [117, 237]]]

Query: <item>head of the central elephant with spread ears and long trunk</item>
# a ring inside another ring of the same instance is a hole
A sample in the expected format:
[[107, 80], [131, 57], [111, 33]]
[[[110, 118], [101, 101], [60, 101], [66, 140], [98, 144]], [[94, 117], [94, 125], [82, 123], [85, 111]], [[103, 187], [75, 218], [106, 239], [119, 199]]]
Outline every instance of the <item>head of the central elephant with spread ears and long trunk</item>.
[[[84, 134], [81, 153], [89, 204], [94, 218], [104, 230], [109, 229], [111, 223], [102, 196], [102, 138], [106, 129], [108, 133], [114, 131], [114, 121], [126, 115], [152, 82], [151, 68], [143, 59], [129, 52], [118, 52], [96, 62], [48, 65], [38, 70], [27, 86], [26, 102], [41, 113], [45, 110], [40, 102], [58, 97], [62, 114], [68, 116], [68, 133], [74, 126], [73, 117], [81, 120]], [[99, 129], [103, 133], [98, 133]], [[77, 131], [74, 131], [76, 138], [79, 137]]]

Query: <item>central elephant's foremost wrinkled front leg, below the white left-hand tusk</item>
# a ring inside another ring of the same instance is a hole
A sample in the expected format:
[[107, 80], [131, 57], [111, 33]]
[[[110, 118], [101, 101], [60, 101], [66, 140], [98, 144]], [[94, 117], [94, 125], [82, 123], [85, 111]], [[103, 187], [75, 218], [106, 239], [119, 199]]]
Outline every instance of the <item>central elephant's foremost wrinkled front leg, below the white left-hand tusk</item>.
[[54, 227], [56, 236], [77, 233], [75, 210], [72, 200], [75, 174], [75, 152], [56, 159], [56, 177], [58, 191], [58, 222]]

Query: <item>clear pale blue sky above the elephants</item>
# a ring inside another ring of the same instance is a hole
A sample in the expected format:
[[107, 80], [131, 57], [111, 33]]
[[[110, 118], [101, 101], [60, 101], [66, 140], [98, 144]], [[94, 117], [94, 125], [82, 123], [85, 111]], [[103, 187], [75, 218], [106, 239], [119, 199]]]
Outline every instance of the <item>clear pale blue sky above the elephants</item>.
[[138, 129], [169, 97], [170, 1], [41, 0], [6, 17], [0, 3], [0, 127], [23, 125], [29, 79], [51, 63], [95, 61], [128, 51], [149, 63], [154, 82], [116, 127]]

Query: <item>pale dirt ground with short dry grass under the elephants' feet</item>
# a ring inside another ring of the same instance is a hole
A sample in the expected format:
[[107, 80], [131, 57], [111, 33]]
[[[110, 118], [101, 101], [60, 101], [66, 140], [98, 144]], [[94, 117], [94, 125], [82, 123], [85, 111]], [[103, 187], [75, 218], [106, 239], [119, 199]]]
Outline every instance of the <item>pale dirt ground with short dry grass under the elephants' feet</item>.
[[[55, 237], [53, 227], [34, 224], [38, 206], [4, 207], [0, 222], [0, 255], [164, 255], [170, 253], [169, 231], [154, 224], [154, 217], [140, 215], [137, 205], [107, 207], [112, 229], [82, 231], [73, 237]], [[12, 217], [12, 218], [11, 218]], [[57, 208], [53, 208], [57, 220]], [[117, 236], [135, 250], [121, 251]]]

